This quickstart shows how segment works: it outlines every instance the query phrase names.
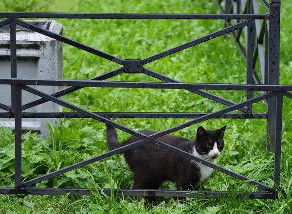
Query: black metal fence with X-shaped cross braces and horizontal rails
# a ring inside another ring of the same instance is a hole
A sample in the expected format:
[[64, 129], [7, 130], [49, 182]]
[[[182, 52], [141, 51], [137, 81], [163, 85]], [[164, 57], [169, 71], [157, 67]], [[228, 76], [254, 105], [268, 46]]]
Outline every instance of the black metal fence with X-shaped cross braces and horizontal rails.
[[[0, 187], [0, 194], [55, 194], [60, 195], [70, 193], [71, 195], [89, 195], [88, 189], [76, 188], [36, 188], [30, 187], [38, 182], [53, 178], [92, 162], [105, 159], [112, 155], [122, 153], [128, 149], [137, 147], [150, 142], [176, 152], [191, 160], [200, 161], [202, 164], [214, 168], [234, 178], [247, 181], [251, 185], [260, 188], [261, 192], [237, 192], [238, 197], [248, 198], [276, 198], [277, 191], [280, 189], [280, 160], [281, 160], [281, 129], [282, 129], [282, 107], [283, 96], [292, 98], [292, 85], [279, 85], [279, 29], [280, 29], [280, 1], [271, 0], [270, 3], [265, 0], [258, 0], [266, 9], [266, 13], [258, 14], [256, 0], [215, 0], [223, 14], [72, 14], [72, 13], [0, 13], [0, 18], [6, 18], [0, 21], [0, 26], [10, 24], [11, 35], [11, 78], [0, 79], [0, 84], [11, 85], [12, 103], [11, 106], [0, 104], [0, 108], [7, 112], [1, 112], [0, 117], [15, 118], [15, 187]], [[222, 7], [221, 5], [224, 5]], [[234, 12], [232, 14], [231, 12]], [[241, 13], [242, 12], [242, 13]], [[225, 27], [212, 34], [202, 36], [198, 39], [184, 43], [171, 48], [159, 54], [154, 54], [144, 59], [121, 59], [111, 54], [104, 53], [97, 49], [76, 42], [65, 36], [61, 36], [34, 26], [20, 18], [91, 18], [91, 19], [224, 19]], [[235, 23], [232, 23], [234, 20]], [[262, 26], [260, 21], [263, 20]], [[39, 79], [19, 79], [17, 78], [17, 40], [16, 25], [36, 31], [40, 34], [55, 38], [59, 41], [72, 45], [76, 48], [98, 55], [123, 67], [110, 71], [108, 73], [96, 76], [90, 80], [39, 80]], [[144, 68], [144, 65], [165, 56], [180, 52], [184, 49], [193, 47], [202, 42], [213, 38], [231, 34], [244, 56], [247, 64], [247, 84], [203, 84], [203, 83], [182, 83], [171, 79], [158, 72]], [[239, 42], [241, 35], [245, 35], [245, 44]], [[265, 44], [263, 44], [265, 41]], [[263, 46], [265, 45], [265, 48]], [[245, 48], [244, 48], [245, 46]], [[259, 78], [255, 65], [257, 58], [260, 62], [261, 79]], [[144, 73], [164, 82], [121, 82], [121, 81], [103, 81], [121, 73]], [[253, 83], [256, 84], [253, 84]], [[45, 94], [42, 91], [33, 89], [30, 86], [69, 86], [54, 94]], [[226, 107], [213, 113], [101, 113], [90, 112], [80, 107], [58, 99], [65, 94], [69, 94], [84, 87], [110, 87], [110, 88], [148, 88], [148, 89], [185, 89], [199, 94], [205, 98], [211, 99]], [[234, 103], [204, 89], [213, 90], [244, 90], [246, 91], [246, 101]], [[22, 91], [28, 91], [42, 98], [33, 102], [21, 103]], [[253, 97], [253, 91], [261, 91], [261, 95]], [[253, 113], [252, 104], [259, 101], [268, 101], [268, 112]], [[22, 112], [25, 109], [35, 107], [39, 104], [52, 101], [63, 107], [74, 110], [75, 112]], [[233, 110], [239, 110], [241, 113], [230, 113]], [[102, 155], [93, 157], [71, 166], [59, 169], [31, 180], [22, 182], [21, 180], [21, 120], [22, 118], [93, 118], [105, 124], [110, 124], [118, 129], [139, 137], [141, 140], [121, 148], [106, 152]], [[124, 125], [111, 121], [109, 118], [192, 118], [190, 121], [177, 125], [175, 127], [158, 132], [151, 136], [134, 131]], [[178, 148], [172, 147], [166, 143], [157, 141], [158, 137], [183, 129], [185, 127], [198, 124], [211, 118], [264, 118], [267, 119], [268, 131], [274, 146], [274, 186], [268, 186], [264, 183], [247, 178], [231, 170], [220, 167], [207, 160], [193, 156]], [[110, 189], [104, 189], [105, 194], [111, 194]], [[119, 189], [115, 193], [123, 196], [187, 196], [187, 197], [228, 197], [229, 192], [219, 191], [179, 191], [179, 190], [134, 190]]]

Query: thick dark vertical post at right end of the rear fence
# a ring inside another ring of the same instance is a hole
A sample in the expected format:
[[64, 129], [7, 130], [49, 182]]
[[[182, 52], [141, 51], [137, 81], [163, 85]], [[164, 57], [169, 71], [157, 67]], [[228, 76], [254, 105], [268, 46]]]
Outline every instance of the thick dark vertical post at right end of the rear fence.
[[[270, 1], [270, 19], [269, 19], [269, 69], [268, 84], [279, 84], [279, 66], [280, 66], [280, 0]], [[266, 142], [267, 151], [272, 151], [275, 144], [276, 132], [276, 109], [277, 99], [272, 97], [268, 99], [268, 120], [267, 131], [268, 138]], [[271, 140], [271, 142], [269, 141]], [[271, 145], [270, 145], [271, 143]], [[271, 148], [272, 146], [272, 148]]]

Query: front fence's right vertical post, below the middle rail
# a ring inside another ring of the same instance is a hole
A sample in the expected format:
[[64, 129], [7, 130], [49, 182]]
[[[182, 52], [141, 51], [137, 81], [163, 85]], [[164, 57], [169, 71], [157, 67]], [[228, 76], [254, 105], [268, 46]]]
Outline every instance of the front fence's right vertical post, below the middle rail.
[[282, 111], [283, 111], [283, 93], [276, 97], [275, 115], [275, 144], [274, 144], [274, 194], [280, 186], [280, 169], [281, 169], [281, 140], [282, 140]]

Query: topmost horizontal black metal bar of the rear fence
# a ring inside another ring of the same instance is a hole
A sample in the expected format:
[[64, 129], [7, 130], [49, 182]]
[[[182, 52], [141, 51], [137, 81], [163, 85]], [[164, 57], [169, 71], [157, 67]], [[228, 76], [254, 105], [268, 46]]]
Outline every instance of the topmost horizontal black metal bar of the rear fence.
[[115, 14], [115, 13], [12, 13], [0, 18], [93, 18], [93, 19], [268, 19], [267, 14]]

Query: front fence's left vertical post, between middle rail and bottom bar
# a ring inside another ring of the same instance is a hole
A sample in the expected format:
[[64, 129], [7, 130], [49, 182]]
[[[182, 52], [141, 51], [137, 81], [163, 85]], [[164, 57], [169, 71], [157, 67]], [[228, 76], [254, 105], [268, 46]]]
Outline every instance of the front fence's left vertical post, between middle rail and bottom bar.
[[22, 91], [20, 86], [15, 86], [15, 178], [14, 186], [21, 185], [21, 106]]

